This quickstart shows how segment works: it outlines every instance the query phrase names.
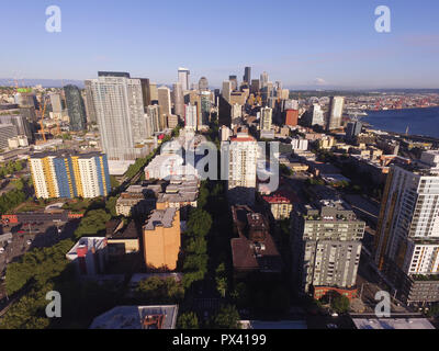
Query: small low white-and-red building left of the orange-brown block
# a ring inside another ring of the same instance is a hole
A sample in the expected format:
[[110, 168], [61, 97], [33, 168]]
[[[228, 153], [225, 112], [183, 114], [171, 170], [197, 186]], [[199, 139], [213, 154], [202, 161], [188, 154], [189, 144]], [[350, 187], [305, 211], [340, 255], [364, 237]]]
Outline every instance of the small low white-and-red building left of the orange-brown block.
[[108, 254], [106, 238], [83, 237], [67, 252], [66, 258], [75, 263], [78, 275], [97, 275], [104, 273]]

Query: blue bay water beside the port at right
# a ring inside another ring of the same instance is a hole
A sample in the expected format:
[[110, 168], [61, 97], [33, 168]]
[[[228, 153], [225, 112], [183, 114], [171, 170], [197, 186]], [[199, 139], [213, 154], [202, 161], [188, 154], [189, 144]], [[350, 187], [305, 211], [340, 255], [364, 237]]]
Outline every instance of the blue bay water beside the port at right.
[[439, 138], [439, 107], [368, 111], [361, 121], [375, 129]]

